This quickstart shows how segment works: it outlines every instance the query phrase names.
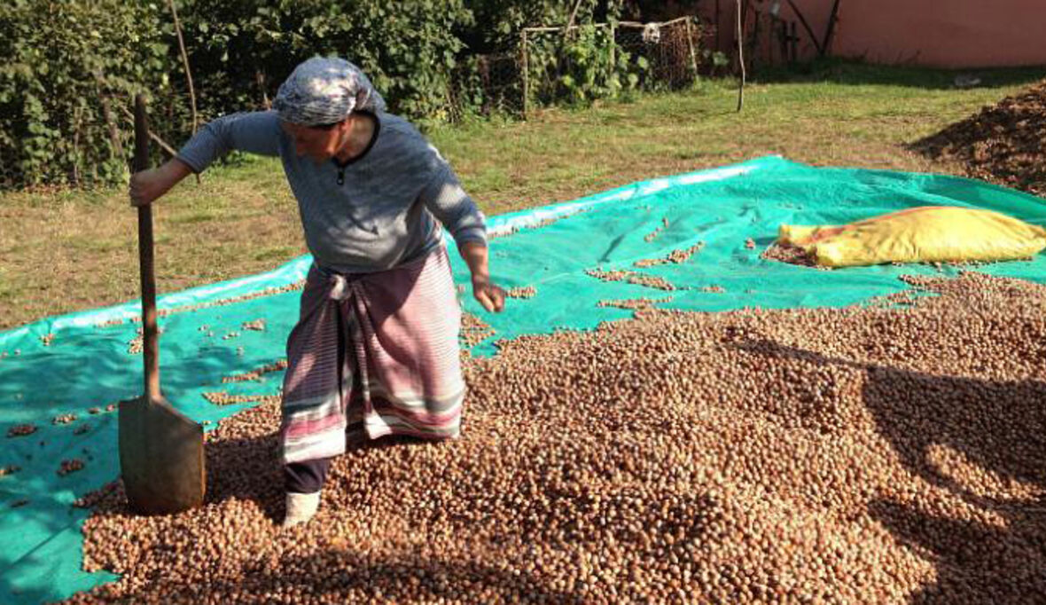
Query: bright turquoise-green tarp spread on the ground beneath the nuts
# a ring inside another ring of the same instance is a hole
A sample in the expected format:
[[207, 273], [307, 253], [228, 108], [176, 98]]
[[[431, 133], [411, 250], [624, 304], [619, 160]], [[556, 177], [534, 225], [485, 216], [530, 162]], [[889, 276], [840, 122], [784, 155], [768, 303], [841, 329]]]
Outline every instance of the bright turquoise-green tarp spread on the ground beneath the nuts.
[[[744, 307], [839, 307], [906, 289], [900, 275], [955, 274], [952, 267], [880, 266], [822, 271], [766, 261], [760, 252], [780, 223], [841, 224], [920, 205], [990, 208], [1033, 224], [1046, 223], [1039, 198], [968, 179], [922, 174], [814, 169], [768, 157], [750, 162], [636, 183], [590, 198], [494, 217], [492, 269], [506, 287], [532, 287], [499, 315], [484, 313], [462, 295], [465, 311], [495, 334], [473, 352], [488, 355], [494, 342], [522, 334], [591, 329], [632, 312], [600, 301], [665, 299], [657, 306], [699, 311]], [[746, 246], [752, 239], [754, 248]], [[704, 242], [686, 262], [637, 268]], [[160, 256], [162, 263], [162, 256]], [[168, 399], [191, 418], [217, 421], [250, 402], [214, 405], [205, 394], [274, 395], [282, 373], [223, 383], [283, 358], [285, 339], [297, 314], [299, 282], [310, 264], [301, 257], [247, 278], [162, 296], [161, 381]], [[1042, 255], [978, 270], [1042, 282]], [[455, 276], [468, 284], [454, 257]], [[591, 271], [634, 271], [661, 277], [673, 291], [607, 282]], [[714, 287], [722, 289], [715, 291]], [[280, 291], [281, 289], [286, 291]], [[670, 297], [670, 300], [667, 299]], [[74, 498], [118, 474], [115, 412], [107, 405], [137, 397], [141, 359], [132, 353], [137, 302], [53, 317], [0, 333], [0, 431], [31, 423], [37, 432], [6, 439], [0, 468], [0, 602], [56, 600], [113, 579], [81, 570], [87, 514]], [[265, 321], [264, 330], [245, 323]], [[100, 408], [90, 413], [92, 407]], [[52, 424], [60, 414], [75, 421]], [[213, 424], [209, 425], [213, 427]], [[87, 427], [87, 428], [83, 428]], [[66, 476], [63, 460], [86, 467]], [[23, 506], [13, 508], [21, 500]]]

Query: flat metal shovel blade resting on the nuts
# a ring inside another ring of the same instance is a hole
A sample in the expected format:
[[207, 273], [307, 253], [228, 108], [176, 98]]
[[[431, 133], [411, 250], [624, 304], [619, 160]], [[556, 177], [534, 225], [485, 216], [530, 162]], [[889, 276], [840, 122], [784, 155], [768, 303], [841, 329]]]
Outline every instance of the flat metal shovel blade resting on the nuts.
[[120, 473], [136, 513], [166, 515], [203, 505], [203, 427], [162, 397], [119, 405]]

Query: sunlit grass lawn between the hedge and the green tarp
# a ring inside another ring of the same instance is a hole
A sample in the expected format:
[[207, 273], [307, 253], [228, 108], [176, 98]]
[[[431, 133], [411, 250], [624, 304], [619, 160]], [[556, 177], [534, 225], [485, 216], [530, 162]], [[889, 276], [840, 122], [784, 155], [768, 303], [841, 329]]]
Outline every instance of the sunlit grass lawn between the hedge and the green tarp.
[[[766, 154], [962, 174], [905, 143], [1027, 87], [1046, 68], [979, 75], [980, 87], [957, 90], [954, 72], [829, 62], [750, 83], [741, 113], [733, 83], [705, 81], [686, 92], [428, 134], [488, 215]], [[187, 179], [154, 216], [160, 293], [265, 271], [305, 251], [275, 159], [212, 169], [202, 184]], [[0, 195], [0, 330], [138, 297], [137, 218], [123, 188]]]

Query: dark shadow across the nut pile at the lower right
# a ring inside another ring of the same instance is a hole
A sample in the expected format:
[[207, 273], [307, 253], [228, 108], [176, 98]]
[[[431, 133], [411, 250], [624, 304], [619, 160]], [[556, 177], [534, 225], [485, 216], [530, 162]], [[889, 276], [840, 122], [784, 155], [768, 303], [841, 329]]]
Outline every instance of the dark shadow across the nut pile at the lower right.
[[[902, 543], [931, 554], [936, 580], [909, 595], [910, 602], [1046, 600], [1046, 578], [1040, 575], [1046, 568], [1044, 502], [976, 494], [942, 473], [930, 457], [932, 448], [950, 448], [1002, 483], [1020, 481], [1046, 489], [1046, 382], [930, 375], [828, 357], [766, 340], [737, 346], [775, 360], [802, 360], [863, 372], [864, 405], [901, 463], [912, 474], [947, 490], [975, 510], [1001, 519], [992, 524], [953, 519], [917, 501], [871, 499], [868, 509], [872, 518]], [[1010, 447], [988, 448], [987, 443], [1007, 443]]]

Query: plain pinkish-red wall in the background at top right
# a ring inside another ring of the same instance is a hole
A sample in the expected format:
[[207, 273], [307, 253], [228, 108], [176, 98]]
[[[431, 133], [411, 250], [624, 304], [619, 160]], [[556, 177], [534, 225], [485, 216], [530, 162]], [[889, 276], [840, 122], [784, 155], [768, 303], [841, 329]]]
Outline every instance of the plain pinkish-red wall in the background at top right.
[[[833, 0], [794, 2], [823, 37]], [[734, 0], [719, 4], [724, 47], [734, 40]], [[764, 19], [770, 5], [753, 3]], [[700, 13], [713, 21], [714, 2], [703, 2]], [[783, 0], [780, 17], [795, 19]], [[798, 35], [800, 57], [815, 54], [801, 26]], [[829, 54], [953, 68], [1046, 65], [1046, 0], [841, 0]]]

